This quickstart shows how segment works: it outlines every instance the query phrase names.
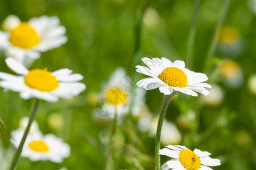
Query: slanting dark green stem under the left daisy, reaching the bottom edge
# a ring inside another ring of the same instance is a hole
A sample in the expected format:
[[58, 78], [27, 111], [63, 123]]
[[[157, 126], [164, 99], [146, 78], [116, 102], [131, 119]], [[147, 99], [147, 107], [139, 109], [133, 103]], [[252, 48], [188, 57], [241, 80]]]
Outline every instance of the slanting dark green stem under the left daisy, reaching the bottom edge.
[[23, 145], [24, 145], [24, 143], [26, 141], [28, 132], [30, 131], [30, 126], [31, 126], [32, 122], [35, 120], [36, 111], [38, 110], [39, 101], [40, 101], [39, 99], [35, 98], [34, 105], [33, 105], [32, 111], [30, 113], [30, 118], [28, 120], [27, 128], [24, 131], [22, 140], [19, 143], [19, 147], [18, 147], [18, 149], [15, 152], [15, 155], [13, 157], [13, 161], [11, 162], [10, 170], [14, 170], [16, 168], [17, 164], [18, 164], [19, 157], [20, 157], [20, 155], [22, 153]]

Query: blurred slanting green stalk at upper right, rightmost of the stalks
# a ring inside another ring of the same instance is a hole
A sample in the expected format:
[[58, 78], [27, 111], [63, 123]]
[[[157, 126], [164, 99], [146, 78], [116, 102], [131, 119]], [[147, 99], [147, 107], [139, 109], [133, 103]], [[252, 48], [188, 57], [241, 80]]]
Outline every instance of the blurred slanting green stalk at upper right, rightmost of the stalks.
[[208, 51], [208, 54], [207, 54], [207, 58], [205, 59], [204, 70], [206, 70], [209, 67], [209, 61], [213, 57], [213, 55], [215, 53], [215, 50], [217, 48], [217, 44], [218, 44], [218, 39], [217, 39], [218, 29], [220, 29], [221, 25], [224, 22], [226, 13], [228, 12], [228, 9], [229, 9], [229, 6], [230, 6], [230, 2], [231, 2], [231, 0], [225, 0], [224, 5], [222, 7], [221, 15], [220, 15], [220, 18], [218, 19], [218, 22], [216, 24], [212, 42], [210, 43], [210, 48], [209, 48], [209, 51]]

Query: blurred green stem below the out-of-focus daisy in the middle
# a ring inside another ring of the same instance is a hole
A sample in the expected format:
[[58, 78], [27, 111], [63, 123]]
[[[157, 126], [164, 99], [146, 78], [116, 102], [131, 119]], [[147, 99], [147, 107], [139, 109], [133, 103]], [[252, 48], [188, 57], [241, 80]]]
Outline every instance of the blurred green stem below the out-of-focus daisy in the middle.
[[106, 163], [105, 163], [105, 170], [111, 170], [112, 167], [112, 152], [113, 152], [113, 137], [115, 135], [115, 131], [117, 130], [117, 113], [114, 113], [114, 120], [112, 124], [112, 130], [109, 135], [109, 143], [106, 152]]

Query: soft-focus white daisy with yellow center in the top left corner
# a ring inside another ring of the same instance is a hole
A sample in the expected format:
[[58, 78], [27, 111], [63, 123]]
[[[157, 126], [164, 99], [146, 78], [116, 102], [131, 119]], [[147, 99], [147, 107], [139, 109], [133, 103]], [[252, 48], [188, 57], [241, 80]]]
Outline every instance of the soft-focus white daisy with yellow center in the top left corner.
[[13, 18], [9, 19], [11, 21], [6, 20], [5, 23], [8, 29], [11, 27], [10, 31], [0, 31], [0, 49], [23, 65], [38, 59], [40, 52], [46, 52], [67, 42], [64, 35], [66, 29], [60, 25], [56, 16], [40, 16], [19, 24], [18, 20], [13, 22]]

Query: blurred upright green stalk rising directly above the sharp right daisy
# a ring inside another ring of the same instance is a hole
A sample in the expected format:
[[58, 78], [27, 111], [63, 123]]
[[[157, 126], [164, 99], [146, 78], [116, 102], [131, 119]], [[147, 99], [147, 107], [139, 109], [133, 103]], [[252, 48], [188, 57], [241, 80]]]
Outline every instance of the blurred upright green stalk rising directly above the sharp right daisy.
[[195, 0], [192, 18], [191, 18], [191, 25], [189, 29], [189, 35], [188, 35], [188, 51], [187, 51], [187, 63], [186, 63], [188, 69], [191, 69], [193, 66], [193, 46], [194, 46], [195, 35], [196, 35], [196, 23], [197, 23], [197, 16], [199, 12], [199, 5], [200, 5], [200, 0]]

